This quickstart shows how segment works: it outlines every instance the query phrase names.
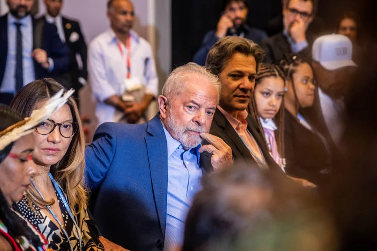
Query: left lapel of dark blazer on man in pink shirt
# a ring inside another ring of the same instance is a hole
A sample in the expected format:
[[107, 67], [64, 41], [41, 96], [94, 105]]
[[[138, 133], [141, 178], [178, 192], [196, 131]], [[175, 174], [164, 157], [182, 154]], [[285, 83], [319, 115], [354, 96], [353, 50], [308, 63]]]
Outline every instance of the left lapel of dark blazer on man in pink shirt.
[[236, 130], [234, 130], [228, 119], [224, 116], [223, 113], [221, 113], [219, 109], [216, 109], [214, 120], [221, 128], [224, 129], [224, 134], [232, 141], [234, 145], [230, 146], [232, 148], [232, 151], [235, 151], [235, 147], [241, 153], [246, 162], [252, 160], [252, 163], [255, 164], [255, 161], [250, 158], [250, 151], [241, 140], [241, 137], [237, 134]]

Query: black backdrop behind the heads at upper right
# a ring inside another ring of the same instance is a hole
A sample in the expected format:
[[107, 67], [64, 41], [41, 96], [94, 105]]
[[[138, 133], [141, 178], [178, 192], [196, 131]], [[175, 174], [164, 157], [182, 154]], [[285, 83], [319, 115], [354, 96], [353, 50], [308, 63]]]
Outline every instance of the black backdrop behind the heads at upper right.
[[[319, 0], [318, 14], [325, 32], [335, 32], [340, 15], [346, 11], [358, 13], [361, 33], [374, 32], [376, 16], [373, 1]], [[216, 29], [222, 0], [172, 0], [172, 68], [190, 62], [200, 48], [207, 31]], [[268, 20], [281, 14], [281, 0], [250, 0], [247, 23], [266, 29]]]

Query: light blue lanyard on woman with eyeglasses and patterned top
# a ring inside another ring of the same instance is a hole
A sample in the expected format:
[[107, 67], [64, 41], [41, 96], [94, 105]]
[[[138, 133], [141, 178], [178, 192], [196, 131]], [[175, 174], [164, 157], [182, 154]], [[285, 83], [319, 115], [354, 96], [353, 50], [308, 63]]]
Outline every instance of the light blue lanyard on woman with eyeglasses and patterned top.
[[[53, 186], [55, 187], [56, 191], [58, 192], [59, 197], [60, 197], [60, 199], [62, 200], [65, 209], [67, 210], [69, 216], [71, 217], [71, 219], [72, 219], [72, 221], [73, 221], [73, 224], [74, 224], [74, 226], [75, 226], [74, 228], [76, 228], [76, 233], [77, 233], [78, 240], [79, 240], [79, 243], [80, 243], [80, 251], [81, 251], [81, 249], [82, 249], [82, 246], [81, 246], [81, 234], [80, 234], [80, 232], [79, 232], [79, 229], [78, 229], [78, 225], [77, 225], [77, 223], [76, 223], [76, 220], [75, 220], [75, 218], [73, 217], [73, 214], [72, 214], [72, 212], [71, 212], [71, 209], [70, 209], [70, 207], [69, 207], [69, 205], [68, 205], [68, 203], [67, 203], [67, 201], [66, 201], [66, 199], [65, 199], [65, 196], [64, 196], [63, 193], [62, 193], [62, 190], [61, 190], [59, 184], [57, 184], [57, 182], [54, 180], [54, 178], [52, 177], [52, 174], [51, 174], [51, 173], [49, 173], [48, 175], [49, 175], [49, 177], [50, 177], [50, 179], [51, 179], [51, 181], [52, 181]], [[42, 193], [39, 191], [38, 187], [35, 185], [34, 181], [32, 181], [32, 184], [33, 184], [33, 186], [35, 187], [35, 189], [37, 190], [39, 196], [41, 196], [41, 198], [42, 198], [43, 200], [45, 200], [45, 199], [43, 198]], [[62, 232], [64, 233], [65, 237], [67, 238], [67, 241], [68, 241], [68, 244], [69, 244], [70, 250], [73, 251], [73, 248], [72, 248], [71, 242], [70, 242], [70, 240], [69, 240], [69, 235], [68, 235], [67, 231], [64, 229], [64, 227], [63, 227], [62, 223], [60, 222], [60, 220], [58, 219], [57, 215], [54, 214], [54, 212], [53, 212], [52, 209], [51, 209], [51, 206], [46, 206], [46, 209], [47, 209], [47, 211], [49, 211], [49, 213], [52, 215], [52, 217], [56, 220], [56, 222], [58, 222], [58, 225], [59, 225], [60, 229], [62, 230]]]

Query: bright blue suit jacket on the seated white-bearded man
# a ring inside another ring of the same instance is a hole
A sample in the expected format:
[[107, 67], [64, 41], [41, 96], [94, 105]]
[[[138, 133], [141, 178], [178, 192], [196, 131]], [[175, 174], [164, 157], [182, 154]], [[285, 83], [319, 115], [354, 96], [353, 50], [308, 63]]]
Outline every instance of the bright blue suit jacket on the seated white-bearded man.
[[167, 143], [158, 115], [144, 124], [101, 124], [85, 162], [90, 209], [101, 234], [127, 249], [162, 250]]

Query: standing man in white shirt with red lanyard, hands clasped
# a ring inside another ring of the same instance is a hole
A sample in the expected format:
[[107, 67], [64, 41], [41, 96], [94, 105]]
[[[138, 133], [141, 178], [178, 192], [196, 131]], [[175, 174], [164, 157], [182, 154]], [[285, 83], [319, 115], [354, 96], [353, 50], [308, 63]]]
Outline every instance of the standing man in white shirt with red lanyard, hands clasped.
[[88, 50], [98, 124], [146, 122], [147, 109], [158, 94], [152, 48], [132, 29], [131, 1], [108, 0], [107, 17], [110, 29], [93, 39]]

